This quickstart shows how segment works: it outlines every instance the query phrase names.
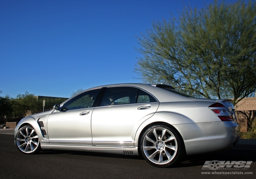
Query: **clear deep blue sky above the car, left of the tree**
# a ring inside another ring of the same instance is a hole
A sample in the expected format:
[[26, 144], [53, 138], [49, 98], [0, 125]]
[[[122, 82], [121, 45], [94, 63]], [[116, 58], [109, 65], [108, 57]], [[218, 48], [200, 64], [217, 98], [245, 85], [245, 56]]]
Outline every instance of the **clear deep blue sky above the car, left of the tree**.
[[211, 2], [1, 0], [0, 95], [69, 98], [81, 87], [140, 83], [136, 36], [170, 12], [179, 17], [184, 5], [201, 9]]

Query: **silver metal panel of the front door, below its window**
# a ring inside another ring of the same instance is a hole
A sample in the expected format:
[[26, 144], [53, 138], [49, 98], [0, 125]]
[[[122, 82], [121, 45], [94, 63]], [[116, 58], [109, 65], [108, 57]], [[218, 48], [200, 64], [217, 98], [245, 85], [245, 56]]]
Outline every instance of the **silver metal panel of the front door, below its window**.
[[[48, 117], [50, 144], [92, 145], [91, 114], [94, 108], [57, 111]], [[88, 113], [83, 114], [81, 113]]]

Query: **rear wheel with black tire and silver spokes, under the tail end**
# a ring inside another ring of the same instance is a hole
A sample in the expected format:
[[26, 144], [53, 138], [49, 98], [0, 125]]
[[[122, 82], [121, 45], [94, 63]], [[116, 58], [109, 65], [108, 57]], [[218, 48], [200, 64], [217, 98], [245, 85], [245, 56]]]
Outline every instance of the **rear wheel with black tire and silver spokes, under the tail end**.
[[166, 168], [181, 160], [184, 143], [176, 129], [166, 124], [157, 124], [143, 133], [140, 149], [143, 158], [149, 164]]

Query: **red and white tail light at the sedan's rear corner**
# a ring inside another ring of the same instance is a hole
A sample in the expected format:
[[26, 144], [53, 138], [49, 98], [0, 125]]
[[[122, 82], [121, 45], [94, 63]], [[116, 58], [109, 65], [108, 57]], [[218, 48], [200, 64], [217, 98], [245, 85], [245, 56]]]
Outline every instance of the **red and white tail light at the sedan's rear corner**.
[[234, 121], [230, 111], [221, 103], [214, 103], [209, 108], [221, 119], [222, 121]]

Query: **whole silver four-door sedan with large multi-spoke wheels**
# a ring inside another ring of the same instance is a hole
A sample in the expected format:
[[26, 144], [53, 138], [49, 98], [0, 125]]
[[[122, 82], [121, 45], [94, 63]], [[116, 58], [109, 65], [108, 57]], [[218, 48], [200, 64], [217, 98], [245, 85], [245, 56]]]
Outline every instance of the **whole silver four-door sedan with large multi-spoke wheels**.
[[194, 98], [168, 85], [116, 84], [85, 90], [14, 130], [25, 154], [42, 149], [142, 155], [156, 167], [183, 154], [226, 150], [239, 141], [230, 100]]

